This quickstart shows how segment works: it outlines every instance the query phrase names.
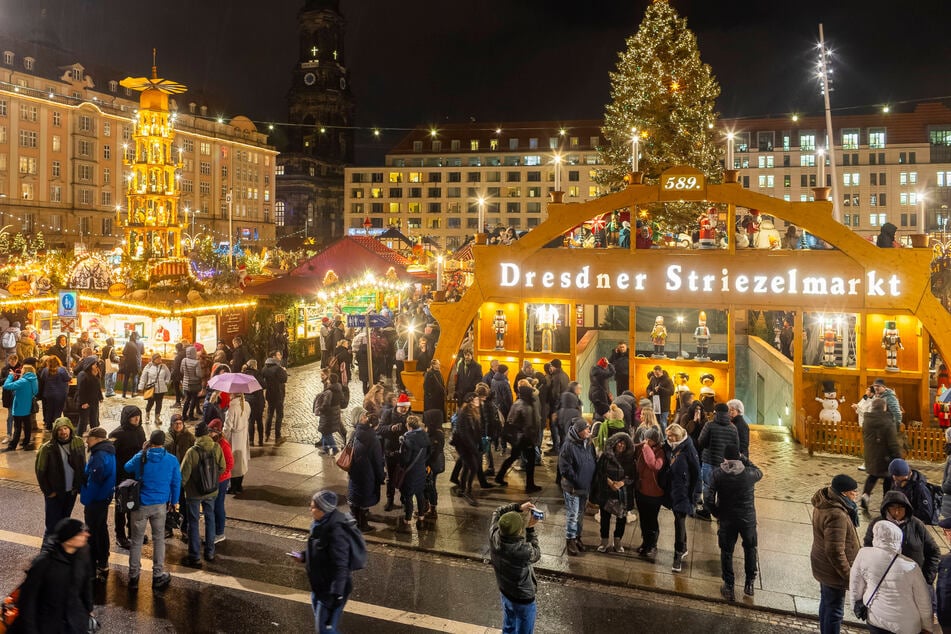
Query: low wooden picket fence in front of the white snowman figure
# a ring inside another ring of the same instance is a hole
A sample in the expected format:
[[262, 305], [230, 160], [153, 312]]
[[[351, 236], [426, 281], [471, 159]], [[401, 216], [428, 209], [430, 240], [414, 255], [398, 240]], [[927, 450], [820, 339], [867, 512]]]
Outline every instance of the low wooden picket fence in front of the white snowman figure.
[[[944, 462], [944, 430], [925, 427], [906, 428], [898, 434], [905, 458]], [[807, 417], [803, 445], [813, 452], [862, 457], [862, 428], [855, 422], [825, 423]]]

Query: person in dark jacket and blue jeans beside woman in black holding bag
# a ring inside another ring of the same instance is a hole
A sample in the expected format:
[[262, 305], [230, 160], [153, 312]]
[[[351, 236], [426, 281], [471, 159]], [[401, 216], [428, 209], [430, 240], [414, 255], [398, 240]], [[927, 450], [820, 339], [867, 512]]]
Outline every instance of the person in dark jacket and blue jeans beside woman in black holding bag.
[[577, 416], [568, 421], [570, 427], [558, 455], [558, 473], [565, 498], [565, 549], [577, 557], [586, 549], [581, 541], [584, 509], [594, 481], [597, 457], [591, 443], [588, 422]]

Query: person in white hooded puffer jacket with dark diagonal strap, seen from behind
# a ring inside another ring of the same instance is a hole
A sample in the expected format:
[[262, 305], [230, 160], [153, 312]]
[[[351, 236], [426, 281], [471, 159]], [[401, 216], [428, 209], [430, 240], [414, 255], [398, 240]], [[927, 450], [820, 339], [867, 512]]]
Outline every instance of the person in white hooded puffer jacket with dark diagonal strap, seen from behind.
[[878, 522], [872, 529], [871, 548], [859, 550], [852, 563], [852, 604], [868, 607], [871, 632], [919, 634], [933, 628], [928, 584], [918, 564], [901, 554], [901, 540], [901, 529], [895, 524]]

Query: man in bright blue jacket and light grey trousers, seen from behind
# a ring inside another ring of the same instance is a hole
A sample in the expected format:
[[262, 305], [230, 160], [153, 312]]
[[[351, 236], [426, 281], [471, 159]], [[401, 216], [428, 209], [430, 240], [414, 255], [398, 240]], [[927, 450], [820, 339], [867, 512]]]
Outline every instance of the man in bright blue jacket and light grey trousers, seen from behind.
[[165, 566], [165, 514], [169, 507], [178, 510], [182, 474], [178, 459], [165, 451], [165, 432], [156, 429], [149, 437], [146, 449], [132, 456], [125, 463], [125, 470], [141, 481], [139, 508], [132, 511], [132, 548], [129, 551], [129, 590], [139, 589], [142, 542], [145, 525], [152, 525], [154, 553], [152, 561], [152, 588], [166, 588], [172, 576], [164, 572]]

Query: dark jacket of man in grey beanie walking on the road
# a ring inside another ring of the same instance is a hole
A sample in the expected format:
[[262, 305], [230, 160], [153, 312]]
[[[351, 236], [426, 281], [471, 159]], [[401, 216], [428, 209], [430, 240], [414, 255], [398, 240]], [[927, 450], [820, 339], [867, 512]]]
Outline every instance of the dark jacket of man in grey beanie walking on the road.
[[[353, 589], [350, 574], [350, 538], [344, 534], [344, 523], [354, 519], [334, 509], [310, 525], [304, 565], [310, 589], [319, 601], [330, 602], [333, 597], [347, 596]], [[356, 527], [351, 527], [356, 530]]]

